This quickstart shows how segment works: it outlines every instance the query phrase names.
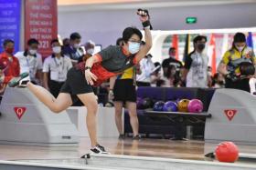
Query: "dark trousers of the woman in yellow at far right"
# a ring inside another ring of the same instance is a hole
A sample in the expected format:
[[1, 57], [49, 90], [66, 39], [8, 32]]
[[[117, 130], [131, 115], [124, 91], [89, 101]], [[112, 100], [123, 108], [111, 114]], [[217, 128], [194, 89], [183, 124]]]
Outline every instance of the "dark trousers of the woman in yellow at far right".
[[225, 88], [234, 88], [244, 90], [246, 92], [251, 92], [250, 85], [249, 85], [249, 78], [241, 79], [236, 82], [232, 82], [228, 78], [226, 78]]

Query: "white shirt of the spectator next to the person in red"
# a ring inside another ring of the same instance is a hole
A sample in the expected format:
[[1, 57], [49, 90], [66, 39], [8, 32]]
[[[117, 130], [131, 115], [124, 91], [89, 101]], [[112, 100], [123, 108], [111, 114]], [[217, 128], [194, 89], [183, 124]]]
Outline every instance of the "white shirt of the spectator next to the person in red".
[[43, 69], [42, 55], [37, 53], [36, 56], [28, 54], [25, 56], [25, 52], [22, 51], [17, 52], [15, 56], [17, 57], [20, 65], [20, 73], [29, 73], [29, 77], [25, 78], [25, 80], [32, 80], [37, 82], [37, 70]]

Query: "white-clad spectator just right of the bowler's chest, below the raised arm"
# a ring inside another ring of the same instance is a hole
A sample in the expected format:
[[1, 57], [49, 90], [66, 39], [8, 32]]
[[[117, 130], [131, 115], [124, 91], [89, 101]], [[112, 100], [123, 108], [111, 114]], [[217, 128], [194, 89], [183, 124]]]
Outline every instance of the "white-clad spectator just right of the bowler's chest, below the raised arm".
[[151, 75], [155, 71], [155, 65], [151, 58], [152, 55], [145, 55], [140, 62], [141, 75], [138, 75], [136, 80], [138, 86], [151, 86]]

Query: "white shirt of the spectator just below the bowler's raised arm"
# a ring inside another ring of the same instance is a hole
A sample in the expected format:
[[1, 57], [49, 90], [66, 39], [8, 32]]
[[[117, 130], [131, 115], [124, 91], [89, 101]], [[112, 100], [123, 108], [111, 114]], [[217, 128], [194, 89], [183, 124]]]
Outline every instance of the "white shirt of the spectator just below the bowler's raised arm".
[[142, 71], [141, 75], [137, 75], [137, 81], [138, 82], [145, 82], [150, 83], [151, 82], [151, 74], [153, 73], [155, 69], [155, 65], [152, 62], [151, 58], [143, 58], [140, 61], [140, 69]]

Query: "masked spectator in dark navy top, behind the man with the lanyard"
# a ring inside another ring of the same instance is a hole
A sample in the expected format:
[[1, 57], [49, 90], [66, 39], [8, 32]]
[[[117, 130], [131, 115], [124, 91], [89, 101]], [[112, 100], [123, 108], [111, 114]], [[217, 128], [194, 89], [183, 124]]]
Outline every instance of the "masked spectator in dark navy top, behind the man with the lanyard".
[[72, 33], [69, 38], [69, 46], [63, 47], [63, 55], [69, 56], [72, 64], [77, 64], [79, 58], [83, 55], [83, 50], [80, 47], [81, 36], [79, 33]]

